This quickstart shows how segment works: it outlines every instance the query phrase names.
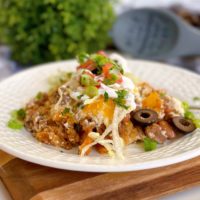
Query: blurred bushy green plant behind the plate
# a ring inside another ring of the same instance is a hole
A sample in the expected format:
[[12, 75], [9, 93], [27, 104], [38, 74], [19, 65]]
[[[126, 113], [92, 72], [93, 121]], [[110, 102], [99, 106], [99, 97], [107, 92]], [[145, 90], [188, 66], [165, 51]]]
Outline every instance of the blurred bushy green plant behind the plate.
[[[0, 0], [0, 42], [24, 65], [104, 49], [113, 0]], [[80, 62], [84, 56], [79, 57]]]

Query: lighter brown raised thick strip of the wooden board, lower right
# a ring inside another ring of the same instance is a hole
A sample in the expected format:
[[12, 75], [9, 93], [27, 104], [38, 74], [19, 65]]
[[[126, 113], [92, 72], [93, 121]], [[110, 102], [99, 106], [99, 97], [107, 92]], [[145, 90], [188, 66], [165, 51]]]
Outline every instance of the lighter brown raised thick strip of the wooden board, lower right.
[[199, 166], [196, 158], [164, 168], [103, 174], [42, 192], [31, 200], [155, 199], [200, 183]]

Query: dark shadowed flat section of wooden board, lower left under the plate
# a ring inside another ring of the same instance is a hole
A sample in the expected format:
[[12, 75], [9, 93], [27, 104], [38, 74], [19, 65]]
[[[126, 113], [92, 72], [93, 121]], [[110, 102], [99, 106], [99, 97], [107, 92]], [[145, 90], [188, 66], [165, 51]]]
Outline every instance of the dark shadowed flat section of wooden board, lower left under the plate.
[[41, 191], [95, 175], [98, 174], [58, 170], [16, 158], [0, 169], [0, 177], [15, 200], [28, 200]]

